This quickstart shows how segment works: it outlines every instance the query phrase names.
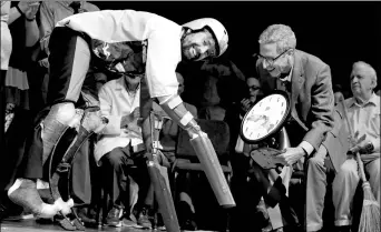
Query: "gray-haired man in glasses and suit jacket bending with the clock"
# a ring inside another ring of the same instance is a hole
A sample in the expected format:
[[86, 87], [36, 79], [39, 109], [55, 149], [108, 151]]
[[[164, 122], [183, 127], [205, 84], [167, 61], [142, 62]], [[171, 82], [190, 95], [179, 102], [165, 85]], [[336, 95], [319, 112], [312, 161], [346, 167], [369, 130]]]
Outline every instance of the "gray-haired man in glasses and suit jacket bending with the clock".
[[[284, 149], [277, 158], [291, 171], [297, 161], [309, 159], [306, 231], [319, 231], [323, 225], [326, 175], [344, 162], [344, 149], [348, 149], [341, 115], [334, 111], [330, 67], [319, 58], [296, 50], [295, 34], [284, 24], [270, 26], [260, 36], [258, 43], [256, 69], [264, 95], [280, 89], [291, 99], [291, 120], [284, 127], [292, 148]], [[287, 185], [285, 180], [282, 182]], [[282, 216], [283, 221], [295, 219], [285, 215], [283, 210]], [[297, 219], [295, 222], [302, 223]]]

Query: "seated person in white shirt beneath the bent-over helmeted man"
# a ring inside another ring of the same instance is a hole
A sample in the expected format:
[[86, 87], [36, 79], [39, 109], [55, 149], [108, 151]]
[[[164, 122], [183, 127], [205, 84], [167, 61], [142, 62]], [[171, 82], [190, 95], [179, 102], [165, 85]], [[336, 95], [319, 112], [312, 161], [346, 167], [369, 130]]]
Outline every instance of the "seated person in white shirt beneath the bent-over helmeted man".
[[107, 82], [99, 91], [101, 115], [109, 122], [99, 134], [95, 157], [105, 170], [105, 189], [113, 204], [106, 220], [113, 226], [120, 226], [124, 213], [131, 212], [130, 208], [135, 202], [130, 201], [135, 195], [129, 192], [133, 188], [130, 183], [135, 182], [143, 196], [136, 204], [139, 212], [138, 224], [152, 226], [147, 214], [153, 206], [153, 199], [147, 194], [150, 180], [144, 159], [141, 129], [137, 125], [139, 100], [140, 77], [123, 75]]

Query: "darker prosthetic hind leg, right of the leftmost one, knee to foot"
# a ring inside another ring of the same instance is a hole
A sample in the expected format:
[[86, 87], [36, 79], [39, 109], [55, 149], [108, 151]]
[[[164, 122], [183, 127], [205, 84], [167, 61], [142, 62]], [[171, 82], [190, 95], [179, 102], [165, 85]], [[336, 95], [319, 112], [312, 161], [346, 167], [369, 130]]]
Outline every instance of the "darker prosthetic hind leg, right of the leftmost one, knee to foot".
[[[101, 129], [105, 128], [107, 123], [107, 119], [101, 119], [99, 117], [99, 108], [88, 108], [85, 111], [84, 110], [77, 110], [77, 117], [72, 121], [72, 124], [70, 127], [76, 127], [78, 130], [78, 133], [76, 134], [75, 139], [72, 140], [69, 148], [66, 150], [63, 155], [60, 155], [58, 152], [55, 151], [51, 154], [50, 159], [50, 165], [49, 165], [49, 183], [50, 183], [50, 192], [51, 195], [57, 202], [57, 204], [62, 205], [60, 210], [60, 214], [63, 216], [63, 220], [60, 221], [60, 224], [66, 230], [85, 230], [85, 226], [80, 222], [76, 211], [72, 210], [74, 201], [70, 199], [70, 172], [71, 172], [71, 165], [72, 160], [75, 159], [78, 150], [84, 144], [85, 141], [94, 133], [99, 132]], [[80, 123], [79, 123], [80, 121]], [[78, 125], [79, 124], [79, 125]], [[66, 141], [63, 140], [63, 143]], [[58, 143], [59, 144], [59, 143]], [[57, 148], [58, 145], [56, 145]], [[67, 148], [67, 147], [66, 147]], [[60, 163], [56, 168], [56, 165], [52, 165], [52, 161], [61, 159]], [[58, 183], [61, 178], [67, 178], [67, 190], [68, 190], [68, 198], [69, 200], [67, 202], [63, 202], [59, 190], [58, 190]], [[68, 218], [66, 218], [67, 214], [71, 213], [75, 215], [75, 219], [72, 222]]]

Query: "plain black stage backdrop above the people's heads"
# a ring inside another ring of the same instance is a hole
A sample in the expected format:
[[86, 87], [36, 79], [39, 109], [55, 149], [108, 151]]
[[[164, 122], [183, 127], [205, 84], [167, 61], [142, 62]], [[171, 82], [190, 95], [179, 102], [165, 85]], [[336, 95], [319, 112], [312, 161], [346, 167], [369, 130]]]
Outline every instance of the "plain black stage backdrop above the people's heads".
[[[333, 83], [349, 88], [352, 63], [359, 60], [381, 75], [381, 2], [300, 1], [92, 1], [100, 9], [149, 11], [179, 24], [201, 17], [221, 20], [229, 33], [226, 53], [246, 71], [258, 51], [257, 38], [270, 24], [291, 26], [296, 48], [330, 64]], [[379, 84], [380, 85], [380, 84]], [[348, 89], [349, 90], [349, 89]]]

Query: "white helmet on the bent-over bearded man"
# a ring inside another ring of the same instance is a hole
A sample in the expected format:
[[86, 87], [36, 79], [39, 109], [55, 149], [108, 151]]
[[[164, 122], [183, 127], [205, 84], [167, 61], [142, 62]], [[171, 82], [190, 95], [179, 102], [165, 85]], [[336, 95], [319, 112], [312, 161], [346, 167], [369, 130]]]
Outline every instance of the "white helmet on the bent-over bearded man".
[[183, 24], [183, 27], [190, 28], [192, 30], [202, 30], [207, 28], [212, 32], [216, 43], [218, 43], [218, 46], [216, 46], [216, 57], [222, 56], [226, 51], [228, 36], [225, 27], [218, 20], [213, 18], [202, 18], [187, 22]]

